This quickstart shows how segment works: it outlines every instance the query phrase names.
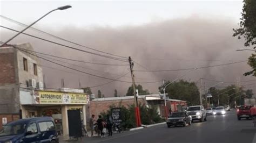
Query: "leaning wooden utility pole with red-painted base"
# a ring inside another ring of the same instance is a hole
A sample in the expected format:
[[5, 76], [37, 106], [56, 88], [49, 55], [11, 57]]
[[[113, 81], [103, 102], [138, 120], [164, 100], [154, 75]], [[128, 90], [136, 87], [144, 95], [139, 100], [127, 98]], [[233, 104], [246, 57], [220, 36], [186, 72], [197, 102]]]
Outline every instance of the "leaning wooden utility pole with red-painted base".
[[133, 88], [133, 94], [134, 94], [135, 119], [136, 119], [136, 125], [137, 127], [139, 127], [141, 125], [140, 113], [139, 113], [138, 101], [136, 97], [135, 80], [134, 80], [134, 73], [133, 73], [133, 62], [132, 62], [131, 56], [129, 56], [129, 63], [130, 63], [130, 70], [131, 70], [131, 76], [132, 76], [132, 88]]

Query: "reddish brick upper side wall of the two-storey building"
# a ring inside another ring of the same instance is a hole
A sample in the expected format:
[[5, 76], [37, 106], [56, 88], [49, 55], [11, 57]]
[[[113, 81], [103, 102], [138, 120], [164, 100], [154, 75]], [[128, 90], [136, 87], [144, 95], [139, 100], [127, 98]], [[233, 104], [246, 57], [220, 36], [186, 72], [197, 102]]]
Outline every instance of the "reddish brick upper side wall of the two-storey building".
[[15, 83], [14, 53], [0, 53], [0, 85]]

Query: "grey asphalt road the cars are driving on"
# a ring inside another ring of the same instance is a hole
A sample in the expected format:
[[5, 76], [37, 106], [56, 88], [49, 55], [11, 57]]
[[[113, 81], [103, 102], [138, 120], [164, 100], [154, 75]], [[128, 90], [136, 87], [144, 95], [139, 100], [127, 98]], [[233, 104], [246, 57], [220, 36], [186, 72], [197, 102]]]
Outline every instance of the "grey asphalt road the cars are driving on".
[[237, 120], [235, 111], [222, 116], [208, 116], [203, 123], [191, 126], [167, 128], [166, 124], [142, 130], [114, 134], [112, 137], [83, 139], [79, 142], [255, 142], [256, 127], [252, 120]]

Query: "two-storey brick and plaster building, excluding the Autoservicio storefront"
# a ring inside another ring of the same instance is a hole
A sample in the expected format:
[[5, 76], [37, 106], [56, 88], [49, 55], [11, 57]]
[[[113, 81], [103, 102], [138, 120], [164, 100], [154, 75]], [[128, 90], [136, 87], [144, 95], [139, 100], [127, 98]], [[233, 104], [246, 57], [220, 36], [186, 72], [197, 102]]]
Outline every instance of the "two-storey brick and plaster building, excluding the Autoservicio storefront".
[[[15, 45], [33, 50], [30, 44]], [[12, 46], [0, 47], [0, 118], [7, 121], [22, 118], [19, 90], [32, 84], [43, 84], [42, 68], [36, 56]], [[33, 81], [31, 80], [33, 79]], [[0, 123], [0, 127], [2, 122]]]

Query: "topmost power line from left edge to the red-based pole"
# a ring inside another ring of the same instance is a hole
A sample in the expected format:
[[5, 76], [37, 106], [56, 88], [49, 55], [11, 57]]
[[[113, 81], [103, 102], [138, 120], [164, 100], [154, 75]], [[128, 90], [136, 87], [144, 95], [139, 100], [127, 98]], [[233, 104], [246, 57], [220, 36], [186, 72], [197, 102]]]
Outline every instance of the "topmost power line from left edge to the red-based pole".
[[[18, 24], [18, 25], [21, 25], [21, 26], [23, 26], [23, 27], [28, 27], [28, 25], [25, 25], [25, 24], [23, 24], [23, 23], [21, 23], [21, 22], [18, 22], [17, 20], [14, 20], [14, 19], [11, 19], [11, 18], [2, 16], [2, 15], [0, 15], [0, 17], [2, 17], [2, 18], [4, 18], [4, 19], [8, 20], [9, 22], [13, 22], [13, 23], [16, 23], [16, 24]], [[36, 30], [36, 31], [38, 31], [38, 32], [41, 32], [41, 33], [50, 35], [51, 37], [54, 37], [54, 38], [57, 38], [57, 39], [59, 39], [59, 40], [63, 40], [63, 41], [69, 42], [69, 43], [71, 43], [71, 44], [75, 44], [75, 45], [78, 45], [78, 46], [82, 46], [82, 47], [84, 47], [84, 48], [91, 49], [91, 50], [93, 50], [93, 51], [97, 51], [97, 52], [101, 52], [101, 53], [105, 53], [105, 54], [109, 54], [109, 55], [113, 55], [113, 56], [118, 56], [119, 58], [125, 58], [125, 59], [126, 59], [126, 57], [124, 57], [124, 56], [120, 56], [120, 55], [115, 55], [115, 54], [103, 52], [103, 51], [100, 51], [100, 50], [95, 49], [95, 48], [91, 48], [91, 47], [88, 47], [88, 46], [84, 46], [84, 45], [78, 44], [78, 43], [76, 43], [76, 42], [72, 42], [72, 41], [70, 41], [70, 40], [66, 40], [66, 39], [64, 39], [64, 38], [57, 37], [56, 35], [53, 35], [53, 34], [44, 32], [44, 31], [42, 31], [42, 30], [38, 30], [37, 28], [33, 28], [33, 27], [30, 27], [30, 28], [31, 28], [32, 30]]]

